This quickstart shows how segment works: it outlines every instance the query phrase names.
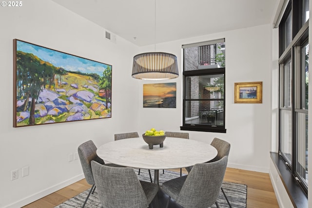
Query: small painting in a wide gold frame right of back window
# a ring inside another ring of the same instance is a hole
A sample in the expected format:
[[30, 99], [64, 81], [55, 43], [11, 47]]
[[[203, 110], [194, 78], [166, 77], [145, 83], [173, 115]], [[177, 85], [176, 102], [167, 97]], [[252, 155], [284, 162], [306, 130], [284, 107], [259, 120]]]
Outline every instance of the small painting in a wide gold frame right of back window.
[[234, 103], [262, 103], [262, 82], [234, 83]]

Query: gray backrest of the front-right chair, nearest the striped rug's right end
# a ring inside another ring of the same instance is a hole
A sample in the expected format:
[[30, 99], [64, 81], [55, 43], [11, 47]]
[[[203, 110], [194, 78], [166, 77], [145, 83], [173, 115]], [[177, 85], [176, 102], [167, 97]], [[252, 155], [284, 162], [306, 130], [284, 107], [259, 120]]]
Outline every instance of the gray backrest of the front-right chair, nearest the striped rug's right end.
[[228, 156], [213, 163], [195, 164], [176, 202], [185, 208], [211, 207], [218, 198], [227, 163]]

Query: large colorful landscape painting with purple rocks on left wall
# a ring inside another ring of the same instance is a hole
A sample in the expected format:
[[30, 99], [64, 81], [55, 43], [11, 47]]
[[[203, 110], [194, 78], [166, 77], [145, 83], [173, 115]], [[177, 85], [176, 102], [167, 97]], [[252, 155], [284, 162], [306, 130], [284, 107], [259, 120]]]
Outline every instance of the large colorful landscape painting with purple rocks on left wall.
[[111, 117], [112, 65], [13, 40], [13, 126]]

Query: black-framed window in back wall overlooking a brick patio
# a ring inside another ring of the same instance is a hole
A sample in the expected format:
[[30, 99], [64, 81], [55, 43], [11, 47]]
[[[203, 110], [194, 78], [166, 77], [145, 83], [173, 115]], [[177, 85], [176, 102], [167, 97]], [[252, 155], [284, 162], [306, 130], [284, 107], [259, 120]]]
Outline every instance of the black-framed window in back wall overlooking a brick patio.
[[226, 132], [225, 40], [183, 45], [181, 130]]

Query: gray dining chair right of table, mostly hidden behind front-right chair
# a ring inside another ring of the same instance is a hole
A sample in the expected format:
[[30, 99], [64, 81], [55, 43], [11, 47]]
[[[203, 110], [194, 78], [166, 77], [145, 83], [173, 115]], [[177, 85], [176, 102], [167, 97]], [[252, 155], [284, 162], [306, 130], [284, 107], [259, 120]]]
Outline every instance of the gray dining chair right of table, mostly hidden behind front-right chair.
[[[214, 140], [211, 142], [211, 146], [214, 146], [216, 148], [216, 150], [218, 151], [218, 154], [215, 156], [214, 159], [212, 159], [208, 163], [218, 161], [221, 158], [223, 158], [224, 156], [229, 156], [229, 154], [230, 154], [231, 144], [226, 142], [226, 141], [224, 141], [224, 140], [221, 140], [219, 138], [214, 138]], [[186, 167], [185, 169], [188, 172], [190, 172], [191, 169], [192, 169], [192, 166]], [[223, 193], [223, 195], [224, 195], [228, 205], [231, 208], [231, 205], [230, 205], [230, 202], [228, 200], [228, 197], [226, 196], [226, 194], [225, 194], [225, 192], [224, 192], [222, 187], [221, 187], [221, 191], [222, 191], [222, 193]]]

